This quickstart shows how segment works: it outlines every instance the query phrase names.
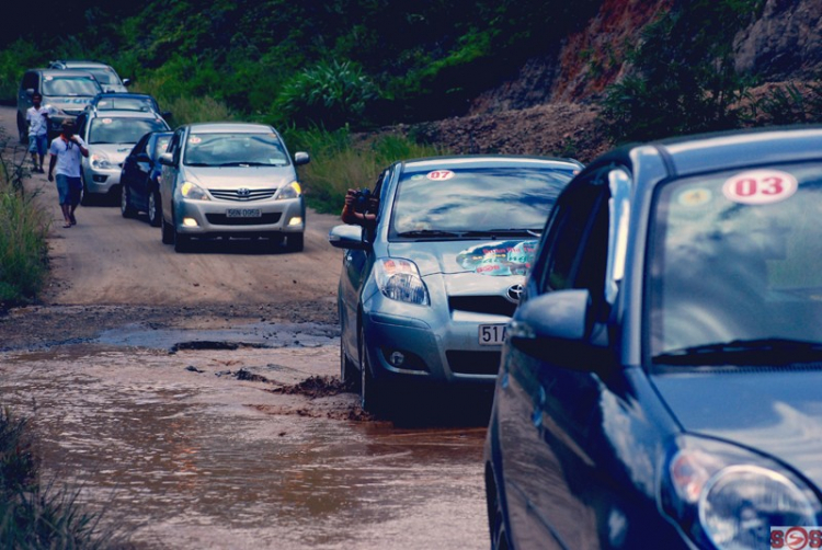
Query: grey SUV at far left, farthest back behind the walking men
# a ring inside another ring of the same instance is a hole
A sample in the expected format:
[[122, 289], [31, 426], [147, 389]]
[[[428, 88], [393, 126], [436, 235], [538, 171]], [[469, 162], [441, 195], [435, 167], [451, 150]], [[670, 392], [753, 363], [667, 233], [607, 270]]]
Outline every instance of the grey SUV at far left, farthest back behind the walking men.
[[48, 138], [60, 133], [64, 121], [76, 121], [85, 105], [102, 92], [94, 77], [84, 71], [30, 69], [23, 73], [18, 91], [18, 133], [20, 142], [28, 141], [25, 112], [33, 105], [32, 95], [43, 96], [43, 106], [50, 110]]

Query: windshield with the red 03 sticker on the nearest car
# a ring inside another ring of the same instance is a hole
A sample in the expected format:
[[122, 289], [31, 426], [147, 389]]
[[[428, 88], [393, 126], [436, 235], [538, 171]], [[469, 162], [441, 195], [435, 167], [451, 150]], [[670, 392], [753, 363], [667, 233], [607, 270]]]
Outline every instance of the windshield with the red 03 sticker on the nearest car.
[[820, 214], [822, 164], [662, 187], [646, 277], [653, 362], [822, 360]]

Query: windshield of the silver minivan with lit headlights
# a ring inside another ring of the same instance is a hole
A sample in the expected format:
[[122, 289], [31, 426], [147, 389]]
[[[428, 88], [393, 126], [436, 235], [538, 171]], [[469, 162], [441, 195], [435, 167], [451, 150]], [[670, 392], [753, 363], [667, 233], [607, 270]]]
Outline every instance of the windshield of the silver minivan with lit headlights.
[[285, 148], [276, 134], [191, 134], [183, 163], [194, 167], [283, 167]]

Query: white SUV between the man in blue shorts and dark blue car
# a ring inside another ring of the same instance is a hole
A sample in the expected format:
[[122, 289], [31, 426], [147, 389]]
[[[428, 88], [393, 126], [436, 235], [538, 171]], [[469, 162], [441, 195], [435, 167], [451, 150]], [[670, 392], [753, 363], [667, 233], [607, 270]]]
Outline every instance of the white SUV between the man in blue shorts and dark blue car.
[[87, 112], [81, 121], [78, 133], [89, 147], [80, 172], [84, 205], [106, 195], [119, 197], [119, 176], [128, 152], [147, 133], [170, 129], [157, 113], [138, 111]]

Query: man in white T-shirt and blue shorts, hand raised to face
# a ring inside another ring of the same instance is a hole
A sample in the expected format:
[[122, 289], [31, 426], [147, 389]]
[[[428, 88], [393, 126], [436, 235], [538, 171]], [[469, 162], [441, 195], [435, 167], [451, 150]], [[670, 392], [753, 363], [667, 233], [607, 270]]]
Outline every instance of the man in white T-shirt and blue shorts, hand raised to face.
[[55, 181], [57, 169], [57, 193], [60, 197], [60, 209], [65, 219], [64, 228], [77, 225], [75, 210], [80, 204], [82, 180], [80, 179], [81, 156], [88, 157], [85, 141], [75, 135], [75, 124], [70, 121], [62, 123], [62, 131], [52, 141], [48, 149], [52, 158], [48, 163], [48, 181]]

